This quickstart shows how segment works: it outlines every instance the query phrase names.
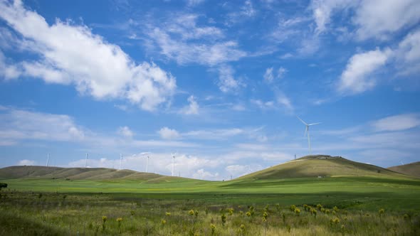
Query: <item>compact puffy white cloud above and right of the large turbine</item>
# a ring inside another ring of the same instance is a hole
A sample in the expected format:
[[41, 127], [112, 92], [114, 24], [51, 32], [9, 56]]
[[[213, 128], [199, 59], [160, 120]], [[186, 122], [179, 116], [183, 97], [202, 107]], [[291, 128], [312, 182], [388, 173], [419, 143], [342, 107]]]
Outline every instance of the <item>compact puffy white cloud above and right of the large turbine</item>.
[[374, 87], [375, 71], [382, 68], [392, 55], [392, 50], [371, 50], [357, 53], [350, 58], [345, 71], [340, 76], [337, 90], [342, 93], [356, 94]]

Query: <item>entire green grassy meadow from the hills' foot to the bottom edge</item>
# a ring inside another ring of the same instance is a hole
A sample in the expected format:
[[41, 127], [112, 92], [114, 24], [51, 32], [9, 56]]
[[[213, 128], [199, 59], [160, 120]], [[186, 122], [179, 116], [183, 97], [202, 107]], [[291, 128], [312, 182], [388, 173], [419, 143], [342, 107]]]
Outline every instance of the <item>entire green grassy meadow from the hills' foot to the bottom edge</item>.
[[6, 179], [1, 235], [419, 235], [420, 181]]

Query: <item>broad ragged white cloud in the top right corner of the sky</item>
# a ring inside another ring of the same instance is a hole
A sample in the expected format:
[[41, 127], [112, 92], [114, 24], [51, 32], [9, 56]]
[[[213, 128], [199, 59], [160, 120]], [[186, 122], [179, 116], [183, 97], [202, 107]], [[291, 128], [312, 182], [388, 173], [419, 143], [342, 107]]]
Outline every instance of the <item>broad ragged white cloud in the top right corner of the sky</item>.
[[[414, 26], [420, 20], [420, 2], [416, 0], [313, 0], [310, 4], [317, 25], [315, 33], [327, 31], [333, 14], [354, 11], [352, 24], [359, 40], [387, 39], [391, 33]], [[348, 12], [344, 16], [348, 15]]]

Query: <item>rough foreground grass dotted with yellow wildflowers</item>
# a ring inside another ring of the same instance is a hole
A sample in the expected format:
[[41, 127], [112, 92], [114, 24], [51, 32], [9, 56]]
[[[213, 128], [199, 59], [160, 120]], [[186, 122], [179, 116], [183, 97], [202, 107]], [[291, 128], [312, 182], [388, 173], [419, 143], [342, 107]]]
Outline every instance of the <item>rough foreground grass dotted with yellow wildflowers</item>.
[[[1, 235], [419, 235], [415, 210], [2, 191]], [[182, 196], [181, 196], [182, 197]], [[204, 197], [204, 198], [203, 198]], [[223, 196], [222, 196], [223, 197]], [[273, 199], [271, 199], [273, 201]]]

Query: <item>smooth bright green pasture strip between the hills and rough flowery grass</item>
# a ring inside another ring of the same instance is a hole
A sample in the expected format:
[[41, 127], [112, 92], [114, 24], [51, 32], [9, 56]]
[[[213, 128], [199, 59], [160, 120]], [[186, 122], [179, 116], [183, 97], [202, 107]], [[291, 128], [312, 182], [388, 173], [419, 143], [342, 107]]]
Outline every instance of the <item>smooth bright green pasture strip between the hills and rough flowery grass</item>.
[[199, 181], [172, 178], [147, 181], [4, 179], [7, 191], [104, 194], [112, 198], [196, 200], [212, 203], [323, 203], [345, 208], [420, 211], [420, 181], [409, 178], [327, 177], [280, 180]]

